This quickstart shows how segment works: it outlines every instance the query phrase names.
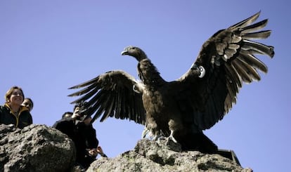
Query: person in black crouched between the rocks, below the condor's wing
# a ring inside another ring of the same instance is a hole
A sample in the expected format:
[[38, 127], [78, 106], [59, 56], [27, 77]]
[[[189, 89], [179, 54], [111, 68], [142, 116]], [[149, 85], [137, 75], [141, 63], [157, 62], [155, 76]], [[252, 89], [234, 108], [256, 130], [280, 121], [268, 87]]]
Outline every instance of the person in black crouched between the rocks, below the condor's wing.
[[96, 138], [96, 130], [90, 124], [91, 117], [81, 120], [79, 106], [75, 106], [73, 113], [65, 112], [62, 119], [56, 121], [53, 127], [72, 139], [76, 147], [77, 164], [88, 168], [96, 160], [99, 141]]

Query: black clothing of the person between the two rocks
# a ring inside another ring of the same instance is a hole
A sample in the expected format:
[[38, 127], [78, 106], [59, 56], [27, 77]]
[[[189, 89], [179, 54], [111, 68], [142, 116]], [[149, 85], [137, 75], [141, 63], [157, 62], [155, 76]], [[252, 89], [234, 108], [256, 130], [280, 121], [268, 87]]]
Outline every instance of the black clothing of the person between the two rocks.
[[96, 138], [96, 130], [92, 125], [87, 126], [84, 122], [75, 124], [75, 120], [71, 117], [60, 119], [53, 124], [53, 128], [65, 133], [75, 143], [76, 162], [84, 168], [88, 168], [96, 159], [91, 157], [86, 149], [98, 147], [98, 139]]

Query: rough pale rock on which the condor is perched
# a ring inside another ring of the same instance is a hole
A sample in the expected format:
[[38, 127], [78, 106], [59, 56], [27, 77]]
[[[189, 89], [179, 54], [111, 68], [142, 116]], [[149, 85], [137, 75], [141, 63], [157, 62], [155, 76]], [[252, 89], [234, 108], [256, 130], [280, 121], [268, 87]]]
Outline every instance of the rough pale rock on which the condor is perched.
[[115, 158], [100, 158], [87, 171], [245, 171], [235, 161], [219, 154], [198, 151], [181, 152], [179, 144], [166, 145], [165, 140], [139, 140], [134, 150]]

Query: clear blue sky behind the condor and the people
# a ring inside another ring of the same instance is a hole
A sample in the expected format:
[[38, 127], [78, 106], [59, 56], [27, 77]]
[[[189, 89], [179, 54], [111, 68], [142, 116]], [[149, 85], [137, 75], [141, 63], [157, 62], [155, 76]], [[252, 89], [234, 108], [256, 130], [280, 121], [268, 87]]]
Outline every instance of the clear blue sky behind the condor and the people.
[[[275, 47], [261, 81], [244, 84], [222, 121], [205, 131], [221, 149], [234, 150], [243, 167], [287, 171], [290, 161], [290, 1], [0, 1], [0, 103], [11, 86], [34, 100], [34, 124], [52, 126], [75, 98], [70, 86], [109, 70], [137, 77], [124, 47], [142, 48], [167, 81], [179, 78], [202, 44], [219, 29], [261, 11]], [[132, 150], [143, 126], [133, 121], [96, 121], [109, 157]]]

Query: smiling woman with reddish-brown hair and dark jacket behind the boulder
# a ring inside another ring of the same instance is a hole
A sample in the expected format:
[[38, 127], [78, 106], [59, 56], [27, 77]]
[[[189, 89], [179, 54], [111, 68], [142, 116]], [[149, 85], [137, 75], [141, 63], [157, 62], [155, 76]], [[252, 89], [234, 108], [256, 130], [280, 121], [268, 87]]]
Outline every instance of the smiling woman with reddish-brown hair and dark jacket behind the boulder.
[[6, 92], [6, 102], [0, 106], [0, 124], [14, 124], [17, 128], [32, 124], [30, 111], [21, 105], [24, 98], [23, 91], [18, 86], [13, 86]]

